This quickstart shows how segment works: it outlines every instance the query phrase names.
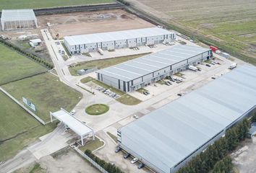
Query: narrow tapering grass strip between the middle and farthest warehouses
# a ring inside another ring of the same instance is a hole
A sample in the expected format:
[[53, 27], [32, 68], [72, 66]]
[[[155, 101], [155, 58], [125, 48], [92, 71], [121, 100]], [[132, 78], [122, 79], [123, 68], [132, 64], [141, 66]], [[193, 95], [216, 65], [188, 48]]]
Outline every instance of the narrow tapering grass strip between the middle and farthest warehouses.
[[138, 58], [140, 56], [145, 56], [148, 54], [149, 53], [141, 53], [133, 56], [120, 56], [116, 58], [108, 58], [103, 60], [87, 61], [85, 63], [78, 63], [76, 66], [69, 67], [69, 71], [70, 71], [70, 74], [72, 74], [73, 76], [78, 76], [77, 70], [80, 70], [80, 69], [94, 68], [95, 66], [98, 69], [106, 68], [106, 67], [114, 66], [118, 63], [124, 63], [125, 61], [129, 61], [129, 60]]

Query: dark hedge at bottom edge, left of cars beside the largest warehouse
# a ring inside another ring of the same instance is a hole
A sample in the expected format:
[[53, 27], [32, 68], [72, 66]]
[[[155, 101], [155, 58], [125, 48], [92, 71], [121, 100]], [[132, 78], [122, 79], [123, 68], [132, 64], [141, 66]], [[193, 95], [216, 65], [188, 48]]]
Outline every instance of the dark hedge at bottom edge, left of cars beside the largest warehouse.
[[95, 156], [92, 151], [86, 150], [85, 154], [90, 157], [90, 159], [93, 159], [98, 165], [100, 165], [103, 169], [105, 169], [109, 173], [124, 173], [119, 169], [119, 167], [116, 167], [114, 164], [110, 164], [100, 158], [98, 156]]

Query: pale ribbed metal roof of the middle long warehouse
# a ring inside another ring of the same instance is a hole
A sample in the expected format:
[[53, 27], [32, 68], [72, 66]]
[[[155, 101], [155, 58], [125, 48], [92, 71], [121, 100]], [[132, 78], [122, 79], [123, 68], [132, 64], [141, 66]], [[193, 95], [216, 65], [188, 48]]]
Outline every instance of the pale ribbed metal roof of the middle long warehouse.
[[176, 45], [158, 53], [152, 53], [131, 61], [119, 63], [116, 66], [103, 68], [97, 72], [121, 79], [122, 81], [131, 81], [132, 79], [137, 79], [140, 76], [158, 71], [174, 63], [184, 61], [187, 58], [205, 53], [208, 50], [210, 49], [189, 45]]

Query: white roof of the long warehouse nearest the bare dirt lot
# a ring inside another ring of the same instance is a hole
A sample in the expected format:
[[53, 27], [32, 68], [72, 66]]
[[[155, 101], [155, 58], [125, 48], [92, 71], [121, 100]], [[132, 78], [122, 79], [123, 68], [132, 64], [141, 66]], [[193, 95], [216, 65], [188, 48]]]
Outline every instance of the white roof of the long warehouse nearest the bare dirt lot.
[[90, 43], [101, 43], [114, 40], [127, 40], [139, 37], [151, 37], [157, 35], [170, 35], [174, 32], [163, 30], [159, 27], [150, 27], [137, 30], [123, 30], [116, 32], [102, 32], [89, 35], [74, 35], [64, 37], [69, 45], [84, 45]]

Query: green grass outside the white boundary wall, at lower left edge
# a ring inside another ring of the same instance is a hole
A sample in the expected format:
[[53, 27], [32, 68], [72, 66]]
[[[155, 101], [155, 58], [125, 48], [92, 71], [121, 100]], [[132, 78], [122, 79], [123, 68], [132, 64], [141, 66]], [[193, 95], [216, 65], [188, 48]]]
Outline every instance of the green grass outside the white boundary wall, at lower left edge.
[[41, 125], [2, 92], [0, 112], [0, 161], [9, 159], [55, 128], [55, 124]]

